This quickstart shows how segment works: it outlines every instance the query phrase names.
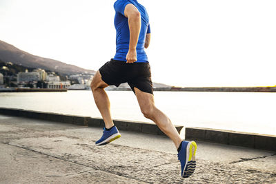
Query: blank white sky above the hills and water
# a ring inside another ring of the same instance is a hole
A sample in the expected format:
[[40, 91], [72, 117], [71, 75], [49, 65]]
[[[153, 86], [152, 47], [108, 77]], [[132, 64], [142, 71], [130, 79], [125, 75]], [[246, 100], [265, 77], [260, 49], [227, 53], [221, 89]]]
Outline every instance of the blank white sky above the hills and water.
[[[115, 0], [0, 0], [0, 40], [98, 70], [115, 55]], [[276, 85], [276, 1], [140, 0], [150, 15], [152, 81]]]

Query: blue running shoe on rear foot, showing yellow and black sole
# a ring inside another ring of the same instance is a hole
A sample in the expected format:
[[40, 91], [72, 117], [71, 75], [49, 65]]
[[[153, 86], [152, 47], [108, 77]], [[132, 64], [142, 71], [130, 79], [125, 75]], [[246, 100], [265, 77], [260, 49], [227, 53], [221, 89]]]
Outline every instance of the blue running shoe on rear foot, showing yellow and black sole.
[[195, 141], [182, 141], [181, 144], [181, 150], [178, 153], [178, 159], [181, 163], [181, 176], [188, 178], [195, 172], [197, 143]]

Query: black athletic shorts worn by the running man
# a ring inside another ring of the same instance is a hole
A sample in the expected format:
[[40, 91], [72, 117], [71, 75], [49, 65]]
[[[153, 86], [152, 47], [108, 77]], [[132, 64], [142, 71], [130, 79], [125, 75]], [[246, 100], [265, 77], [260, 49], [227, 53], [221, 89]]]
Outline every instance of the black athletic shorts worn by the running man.
[[100, 69], [101, 79], [108, 85], [128, 83], [133, 92], [138, 88], [142, 92], [153, 94], [149, 63], [126, 63], [111, 59]]

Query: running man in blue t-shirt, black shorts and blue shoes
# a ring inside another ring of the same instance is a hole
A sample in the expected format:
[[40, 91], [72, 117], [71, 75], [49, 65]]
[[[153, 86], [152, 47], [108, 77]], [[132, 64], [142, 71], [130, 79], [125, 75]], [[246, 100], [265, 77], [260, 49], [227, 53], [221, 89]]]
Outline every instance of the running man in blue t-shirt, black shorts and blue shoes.
[[164, 134], [175, 143], [181, 163], [181, 176], [189, 177], [195, 171], [195, 141], [182, 141], [168, 116], [155, 107], [150, 64], [144, 48], [150, 44], [148, 13], [137, 0], [117, 0], [115, 8], [116, 54], [95, 74], [91, 90], [105, 127], [96, 145], [105, 145], [118, 139], [121, 134], [110, 114], [110, 101], [104, 88], [108, 85], [128, 83], [135, 93], [141, 112], [154, 121]]

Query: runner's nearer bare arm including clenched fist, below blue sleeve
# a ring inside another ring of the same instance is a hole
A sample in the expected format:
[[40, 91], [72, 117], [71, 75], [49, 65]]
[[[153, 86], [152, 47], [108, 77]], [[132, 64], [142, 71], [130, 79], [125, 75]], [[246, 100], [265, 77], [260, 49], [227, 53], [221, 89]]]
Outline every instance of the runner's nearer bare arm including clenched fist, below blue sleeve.
[[141, 30], [141, 14], [132, 4], [126, 6], [124, 14], [128, 18], [128, 27], [130, 30], [130, 43], [126, 60], [128, 63], [133, 63], [137, 61], [136, 46]]

